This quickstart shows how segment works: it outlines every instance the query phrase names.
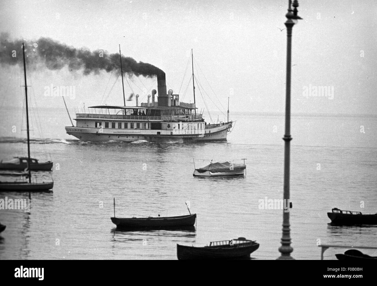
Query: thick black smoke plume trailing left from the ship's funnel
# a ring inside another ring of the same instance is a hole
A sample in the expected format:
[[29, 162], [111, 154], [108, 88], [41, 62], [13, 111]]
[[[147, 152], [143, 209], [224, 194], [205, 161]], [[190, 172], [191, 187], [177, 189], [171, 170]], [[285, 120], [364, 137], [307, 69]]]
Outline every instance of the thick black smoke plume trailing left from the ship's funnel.
[[[22, 40], [10, 41], [8, 35], [0, 36], [0, 63], [22, 65]], [[98, 74], [102, 70], [120, 73], [119, 54], [109, 54], [104, 50], [91, 52], [58, 43], [50, 38], [41, 37], [37, 41], [26, 41], [25, 55], [28, 68], [37, 69], [43, 64], [49, 70], [60, 70], [67, 66], [70, 71], [83, 70], [84, 75]], [[16, 56], [14, 57], [14, 51]], [[12, 56], [13, 55], [13, 56]], [[133, 58], [122, 56], [123, 72], [144, 77], [164, 76], [165, 73], [152, 64], [137, 62]]]

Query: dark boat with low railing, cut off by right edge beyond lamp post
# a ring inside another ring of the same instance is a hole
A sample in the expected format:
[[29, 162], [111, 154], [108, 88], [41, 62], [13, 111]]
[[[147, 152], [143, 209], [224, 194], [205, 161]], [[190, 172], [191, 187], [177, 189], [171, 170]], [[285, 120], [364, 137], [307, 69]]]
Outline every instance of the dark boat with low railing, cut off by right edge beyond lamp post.
[[333, 208], [327, 213], [332, 225], [377, 225], [376, 214], [362, 214], [360, 211], [342, 211]]

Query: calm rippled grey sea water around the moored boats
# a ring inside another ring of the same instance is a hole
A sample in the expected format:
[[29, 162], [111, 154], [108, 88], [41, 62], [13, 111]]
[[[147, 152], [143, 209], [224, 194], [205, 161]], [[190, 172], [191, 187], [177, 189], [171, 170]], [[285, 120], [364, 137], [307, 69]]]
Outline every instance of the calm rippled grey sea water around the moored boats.
[[[43, 138], [49, 139], [39, 140], [32, 132], [32, 156], [49, 159], [51, 154], [54, 189], [32, 193], [30, 213], [0, 210], [0, 222], [7, 226], [1, 259], [176, 259], [177, 243], [203, 246], [240, 236], [260, 243], [251, 257], [279, 257], [283, 211], [260, 209], [259, 200], [283, 197], [284, 116], [233, 115], [237, 122], [227, 142], [95, 144], [69, 139], [67, 119], [59, 119], [66, 116], [64, 110], [41, 111]], [[20, 123], [12, 122], [12, 112], [2, 115], [2, 159], [26, 154], [25, 143], [8, 138]], [[376, 246], [377, 227], [330, 226], [326, 215], [334, 207], [377, 211], [376, 129], [373, 117], [293, 116], [294, 258], [319, 259], [318, 242]], [[193, 177], [193, 158], [247, 158], [247, 176]], [[0, 195], [29, 198], [29, 193]], [[198, 214], [196, 231], [117, 231], [110, 220], [113, 197], [118, 217], [188, 214], [189, 201], [191, 212]], [[344, 250], [328, 249], [325, 259], [336, 259], [334, 254]]]

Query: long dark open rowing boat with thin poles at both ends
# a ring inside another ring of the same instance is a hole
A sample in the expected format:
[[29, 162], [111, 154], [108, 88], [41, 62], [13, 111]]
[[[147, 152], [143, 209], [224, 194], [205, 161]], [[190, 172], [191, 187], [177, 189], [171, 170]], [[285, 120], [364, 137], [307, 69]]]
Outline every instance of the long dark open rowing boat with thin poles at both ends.
[[111, 217], [110, 219], [117, 228], [121, 229], [166, 229], [193, 226], [195, 224], [196, 214], [175, 217]]

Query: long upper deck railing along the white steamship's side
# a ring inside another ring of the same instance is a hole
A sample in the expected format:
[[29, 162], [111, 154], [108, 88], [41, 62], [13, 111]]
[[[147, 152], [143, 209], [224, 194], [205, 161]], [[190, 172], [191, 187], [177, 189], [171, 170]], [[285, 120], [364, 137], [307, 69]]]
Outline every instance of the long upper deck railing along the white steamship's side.
[[[103, 118], [103, 119], [129, 119], [129, 120], [158, 120], [158, 121], [198, 121], [202, 119], [201, 114], [187, 115], [185, 117], [179, 115], [173, 116], [143, 116], [143, 115], [116, 115], [116, 114], [96, 114], [96, 113], [76, 113], [76, 117], [80, 118]], [[221, 124], [219, 124], [221, 125]]]

